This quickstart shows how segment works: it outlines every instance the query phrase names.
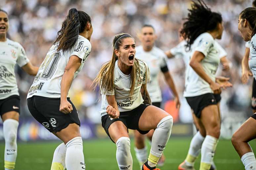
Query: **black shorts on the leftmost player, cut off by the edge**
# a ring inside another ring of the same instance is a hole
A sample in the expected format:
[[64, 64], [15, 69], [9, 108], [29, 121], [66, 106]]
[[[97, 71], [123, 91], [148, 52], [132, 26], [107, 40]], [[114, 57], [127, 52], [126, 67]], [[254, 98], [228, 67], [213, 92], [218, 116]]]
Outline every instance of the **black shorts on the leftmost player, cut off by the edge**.
[[18, 95], [12, 95], [0, 100], [0, 116], [6, 112], [15, 111], [20, 113], [21, 99]]

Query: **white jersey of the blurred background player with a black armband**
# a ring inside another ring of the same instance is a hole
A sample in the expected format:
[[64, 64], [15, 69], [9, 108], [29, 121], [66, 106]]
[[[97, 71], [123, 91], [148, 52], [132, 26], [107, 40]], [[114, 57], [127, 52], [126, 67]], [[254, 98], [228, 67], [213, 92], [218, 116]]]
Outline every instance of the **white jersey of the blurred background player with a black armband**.
[[164, 51], [157, 47], [153, 47], [151, 51], [144, 51], [143, 47], [139, 46], [136, 47], [136, 58], [145, 61], [149, 66], [150, 82], [147, 86], [147, 90], [149, 92], [151, 102], [161, 102], [162, 94], [157, 78], [160, 71], [168, 71]]

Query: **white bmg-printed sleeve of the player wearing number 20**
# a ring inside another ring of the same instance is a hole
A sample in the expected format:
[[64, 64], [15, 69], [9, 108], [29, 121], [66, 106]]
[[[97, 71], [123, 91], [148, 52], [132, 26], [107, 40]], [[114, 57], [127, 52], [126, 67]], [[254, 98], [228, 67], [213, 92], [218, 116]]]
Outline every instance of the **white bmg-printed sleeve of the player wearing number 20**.
[[88, 58], [91, 52], [91, 49], [92, 49], [91, 43], [86, 38], [84, 39], [79, 38], [71, 55], [76, 55], [79, 58], [81, 58], [82, 59], [81, 63], [82, 63], [82, 62], [85, 62], [86, 59]]

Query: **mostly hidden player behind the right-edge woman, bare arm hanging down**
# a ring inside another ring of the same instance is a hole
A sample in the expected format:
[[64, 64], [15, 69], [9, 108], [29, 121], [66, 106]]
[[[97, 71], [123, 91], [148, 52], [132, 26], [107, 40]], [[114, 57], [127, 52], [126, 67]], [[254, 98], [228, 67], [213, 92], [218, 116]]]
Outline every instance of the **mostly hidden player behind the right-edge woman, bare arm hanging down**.
[[[255, 7], [256, 6], [256, 0], [254, 0], [252, 2], [252, 6]], [[248, 60], [249, 60], [249, 54], [250, 54], [250, 47], [251, 47], [251, 41], [247, 41], [245, 43], [245, 52], [244, 52], [244, 56], [242, 59], [242, 83], [243, 84], [247, 84], [248, 80], [249, 80], [249, 76], [252, 76], [252, 72], [250, 71], [249, 65], [248, 65]], [[256, 80], [253, 79], [253, 83], [252, 83], [252, 99], [251, 99], [251, 107], [252, 107], [252, 111], [253, 113], [256, 112]]]

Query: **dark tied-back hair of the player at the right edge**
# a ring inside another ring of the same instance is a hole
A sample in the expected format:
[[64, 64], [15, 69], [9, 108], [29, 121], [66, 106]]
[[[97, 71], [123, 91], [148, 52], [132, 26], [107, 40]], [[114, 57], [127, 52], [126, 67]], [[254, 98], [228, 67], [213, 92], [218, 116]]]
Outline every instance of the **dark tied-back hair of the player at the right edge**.
[[253, 37], [256, 33], [256, 8], [255, 7], [246, 8], [240, 13], [239, 16], [241, 19], [246, 19], [249, 22], [250, 29], [252, 30], [251, 37]]

